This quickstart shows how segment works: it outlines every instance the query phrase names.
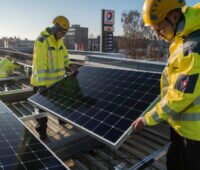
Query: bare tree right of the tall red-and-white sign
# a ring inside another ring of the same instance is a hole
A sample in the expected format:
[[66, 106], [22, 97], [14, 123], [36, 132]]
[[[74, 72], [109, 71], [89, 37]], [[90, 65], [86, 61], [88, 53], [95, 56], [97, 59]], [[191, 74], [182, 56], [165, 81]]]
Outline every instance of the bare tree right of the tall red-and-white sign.
[[122, 43], [128, 57], [148, 60], [160, 60], [163, 57], [163, 41], [157, 38], [152, 29], [144, 26], [137, 10], [124, 11], [121, 22], [125, 37]]

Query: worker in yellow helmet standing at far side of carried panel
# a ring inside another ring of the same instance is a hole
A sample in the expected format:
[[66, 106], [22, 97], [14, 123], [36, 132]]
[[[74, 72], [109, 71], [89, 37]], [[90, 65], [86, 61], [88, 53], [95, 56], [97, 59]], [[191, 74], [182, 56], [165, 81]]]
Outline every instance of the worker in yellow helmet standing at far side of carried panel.
[[[66, 68], [77, 71], [76, 65], [70, 62], [68, 51], [62, 38], [70, 27], [69, 20], [64, 16], [57, 16], [53, 26], [41, 32], [34, 44], [33, 68], [31, 84], [34, 92], [40, 92], [64, 78]], [[36, 119], [41, 139], [47, 138], [47, 117]]]

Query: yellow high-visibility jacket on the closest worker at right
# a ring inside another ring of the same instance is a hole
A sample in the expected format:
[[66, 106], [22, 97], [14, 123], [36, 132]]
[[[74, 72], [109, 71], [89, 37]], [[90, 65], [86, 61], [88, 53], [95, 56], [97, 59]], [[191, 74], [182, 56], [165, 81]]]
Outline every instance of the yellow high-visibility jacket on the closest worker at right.
[[149, 126], [167, 120], [179, 135], [200, 141], [200, 8], [182, 11], [161, 76], [161, 100], [144, 118]]

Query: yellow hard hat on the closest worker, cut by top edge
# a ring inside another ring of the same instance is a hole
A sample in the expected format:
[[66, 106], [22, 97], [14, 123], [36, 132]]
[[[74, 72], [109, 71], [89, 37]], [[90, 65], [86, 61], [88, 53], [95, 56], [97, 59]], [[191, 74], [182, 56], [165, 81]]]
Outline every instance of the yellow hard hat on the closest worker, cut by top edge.
[[167, 14], [185, 5], [185, 0], [145, 0], [142, 17], [145, 26], [159, 24]]

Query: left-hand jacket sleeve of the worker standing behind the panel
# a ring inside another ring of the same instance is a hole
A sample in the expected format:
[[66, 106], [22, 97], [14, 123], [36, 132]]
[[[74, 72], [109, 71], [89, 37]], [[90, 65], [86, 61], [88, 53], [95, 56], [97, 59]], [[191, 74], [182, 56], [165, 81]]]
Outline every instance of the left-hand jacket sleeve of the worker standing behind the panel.
[[47, 42], [37, 39], [34, 44], [33, 74], [37, 78], [39, 86], [46, 85], [43, 80], [48, 72], [48, 45]]

